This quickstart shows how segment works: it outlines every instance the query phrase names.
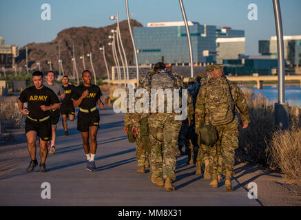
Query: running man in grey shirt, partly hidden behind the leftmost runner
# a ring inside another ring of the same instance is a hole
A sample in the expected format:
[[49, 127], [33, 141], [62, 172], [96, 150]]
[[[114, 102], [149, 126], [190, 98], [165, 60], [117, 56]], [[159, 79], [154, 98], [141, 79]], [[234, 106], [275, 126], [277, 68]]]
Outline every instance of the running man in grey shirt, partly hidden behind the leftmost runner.
[[[48, 71], [46, 74], [46, 82], [44, 83], [45, 87], [48, 87], [54, 91], [56, 96], [59, 98], [60, 102], [65, 98], [65, 90], [59, 85], [59, 83], [54, 83], [55, 74], [52, 71]], [[56, 124], [59, 122], [60, 111], [59, 109], [54, 109], [50, 114], [50, 122], [52, 127], [52, 138], [50, 146], [48, 146], [48, 151], [50, 154], [55, 152], [55, 139], [56, 139]], [[49, 144], [49, 143], [48, 143]]]

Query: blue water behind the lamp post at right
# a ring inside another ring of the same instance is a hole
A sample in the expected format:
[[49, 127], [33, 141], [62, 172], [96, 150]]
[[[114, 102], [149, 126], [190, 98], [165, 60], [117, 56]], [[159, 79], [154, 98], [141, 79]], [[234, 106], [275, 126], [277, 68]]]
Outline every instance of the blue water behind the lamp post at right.
[[[250, 88], [250, 87], [249, 87]], [[251, 87], [256, 93], [262, 93], [269, 100], [278, 102], [278, 86], [264, 86], [263, 89]], [[300, 85], [287, 85], [284, 87], [284, 101], [288, 102], [290, 106], [297, 105], [301, 107], [301, 88]]]

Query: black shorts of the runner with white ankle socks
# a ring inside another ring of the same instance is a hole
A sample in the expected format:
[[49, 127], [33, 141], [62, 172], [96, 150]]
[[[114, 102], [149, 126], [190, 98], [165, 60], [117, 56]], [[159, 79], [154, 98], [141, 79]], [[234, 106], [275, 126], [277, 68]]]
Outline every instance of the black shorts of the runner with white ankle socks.
[[97, 109], [90, 113], [79, 111], [77, 114], [77, 130], [87, 132], [90, 126], [97, 126], [99, 128], [99, 120], [99, 111]]

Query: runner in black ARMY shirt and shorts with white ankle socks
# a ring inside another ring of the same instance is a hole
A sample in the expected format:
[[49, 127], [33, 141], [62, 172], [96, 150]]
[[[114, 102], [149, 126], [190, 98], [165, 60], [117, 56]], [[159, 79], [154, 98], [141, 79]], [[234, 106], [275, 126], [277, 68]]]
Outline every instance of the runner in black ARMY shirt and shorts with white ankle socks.
[[[72, 96], [74, 107], [79, 107], [77, 114], [77, 130], [81, 131], [83, 137], [83, 149], [87, 157], [87, 170], [96, 169], [94, 157], [97, 148], [96, 135], [99, 128], [99, 112], [96, 109], [98, 104], [101, 109], [105, 106], [101, 102], [101, 89], [97, 85], [92, 85], [92, 74], [89, 70], [84, 70], [81, 74], [83, 85], [76, 87]], [[90, 133], [90, 145], [89, 145]], [[91, 153], [91, 155], [90, 155]]]

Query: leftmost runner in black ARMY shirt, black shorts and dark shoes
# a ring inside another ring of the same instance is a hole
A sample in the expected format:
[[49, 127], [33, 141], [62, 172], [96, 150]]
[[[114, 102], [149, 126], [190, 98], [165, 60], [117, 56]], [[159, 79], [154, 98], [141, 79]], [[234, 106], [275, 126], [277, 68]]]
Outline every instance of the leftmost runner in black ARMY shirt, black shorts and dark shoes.
[[[28, 153], [31, 162], [27, 168], [30, 173], [37, 166], [36, 139], [40, 140], [40, 171], [46, 172], [45, 161], [48, 155], [47, 142], [51, 140], [52, 129], [50, 124], [50, 110], [59, 109], [60, 101], [56, 94], [48, 87], [43, 86], [43, 73], [36, 71], [32, 74], [34, 86], [25, 89], [19, 99], [19, 111], [28, 115], [25, 120], [25, 133], [28, 142]], [[28, 108], [23, 109], [23, 103], [28, 102]]]

